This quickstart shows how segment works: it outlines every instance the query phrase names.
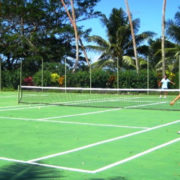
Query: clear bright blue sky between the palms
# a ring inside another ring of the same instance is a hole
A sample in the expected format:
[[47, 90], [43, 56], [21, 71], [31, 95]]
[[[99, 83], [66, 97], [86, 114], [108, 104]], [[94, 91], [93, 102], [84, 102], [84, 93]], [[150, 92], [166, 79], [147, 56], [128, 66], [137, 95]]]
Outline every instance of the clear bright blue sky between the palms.
[[[157, 34], [156, 37], [160, 37], [163, 0], [128, 0], [128, 2], [133, 19], [140, 19], [139, 33], [153, 31]], [[180, 7], [180, 0], [167, 0], [166, 20], [174, 19], [178, 7]], [[124, 0], [100, 0], [95, 10], [101, 11], [109, 17], [113, 8], [123, 8], [126, 12]], [[90, 35], [99, 35], [107, 39], [106, 28], [99, 19], [86, 20], [78, 25], [83, 25], [85, 29], [91, 28], [92, 32]], [[93, 54], [93, 58], [97, 58], [97, 56]]]

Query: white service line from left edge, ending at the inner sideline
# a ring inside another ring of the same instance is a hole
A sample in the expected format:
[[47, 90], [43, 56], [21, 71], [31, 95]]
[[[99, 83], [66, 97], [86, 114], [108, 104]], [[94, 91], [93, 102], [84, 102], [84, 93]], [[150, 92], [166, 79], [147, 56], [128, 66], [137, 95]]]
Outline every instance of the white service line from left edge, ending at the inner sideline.
[[114, 124], [98, 124], [98, 123], [83, 123], [83, 122], [73, 122], [73, 121], [54, 121], [46, 119], [28, 119], [28, 118], [14, 118], [14, 117], [0, 117], [0, 119], [7, 120], [20, 120], [20, 121], [35, 121], [35, 122], [47, 122], [56, 124], [75, 124], [75, 125], [85, 125], [85, 126], [96, 126], [96, 127], [116, 127], [116, 128], [128, 128], [128, 129], [148, 129], [148, 127], [138, 127], [138, 126], [121, 126]]

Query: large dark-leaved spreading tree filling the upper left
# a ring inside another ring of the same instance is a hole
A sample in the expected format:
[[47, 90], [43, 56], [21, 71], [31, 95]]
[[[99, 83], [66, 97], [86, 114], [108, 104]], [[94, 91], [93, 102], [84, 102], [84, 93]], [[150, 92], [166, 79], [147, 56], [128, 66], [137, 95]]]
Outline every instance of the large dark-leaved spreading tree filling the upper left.
[[[76, 1], [76, 20], [96, 17], [98, 12], [93, 7], [98, 1]], [[46, 62], [61, 62], [64, 56], [74, 59], [74, 32], [60, 0], [2, 0], [0, 13], [0, 53], [8, 69], [22, 60], [31, 64], [28, 68], [33, 72], [42, 59]]]

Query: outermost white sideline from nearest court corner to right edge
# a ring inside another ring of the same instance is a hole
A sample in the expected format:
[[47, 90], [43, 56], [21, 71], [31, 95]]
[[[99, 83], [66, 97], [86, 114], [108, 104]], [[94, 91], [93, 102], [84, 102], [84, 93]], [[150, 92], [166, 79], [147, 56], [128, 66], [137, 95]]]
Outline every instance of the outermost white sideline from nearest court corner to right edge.
[[107, 165], [107, 166], [104, 166], [104, 167], [102, 167], [102, 168], [99, 168], [99, 169], [95, 170], [94, 173], [102, 172], [102, 171], [105, 171], [105, 170], [107, 170], [107, 169], [110, 169], [110, 168], [113, 168], [113, 167], [115, 167], [115, 166], [118, 166], [118, 165], [120, 165], [120, 164], [124, 164], [124, 163], [126, 163], [126, 162], [128, 162], [128, 161], [131, 161], [131, 160], [133, 160], [133, 159], [139, 158], [139, 157], [141, 157], [141, 156], [144, 156], [144, 155], [146, 155], [146, 154], [149, 154], [149, 153], [151, 153], [151, 152], [153, 152], [153, 151], [156, 151], [156, 150], [158, 150], [158, 149], [164, 148], [164, 147], [166, 147], [166, 146], [168, 146], [168, 145], [171, 145], [171, 144], [173, 144], [173, 143], [176, 143], [176, 142], [178, 142], [178, 141], [180, 141], [180, 138], [176, 138], [176, 139], [174, 139], [174, 140], [172, 140], [172, 141], [169, 141], [169, 142], [167, 142], [167, 143], [164, 143], [164, 144], [155, 146], [155, 147], [153, 147], [153, 148], [151, 148], [151, 149], [148, 149], [148, 150], [146, 150], [146, 151], [144, 151], [144, 152], [138, 153], [138, 154], [133, 155], [133, 156], [130, 156], [130, 157], [126, 158], [126, 159], [123, 159], [123, 160], [117, 161], [117, 162], [115, 162], [115, 163], [109, 164], [109, 165]]

